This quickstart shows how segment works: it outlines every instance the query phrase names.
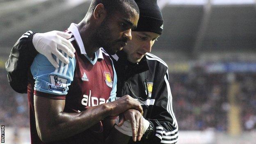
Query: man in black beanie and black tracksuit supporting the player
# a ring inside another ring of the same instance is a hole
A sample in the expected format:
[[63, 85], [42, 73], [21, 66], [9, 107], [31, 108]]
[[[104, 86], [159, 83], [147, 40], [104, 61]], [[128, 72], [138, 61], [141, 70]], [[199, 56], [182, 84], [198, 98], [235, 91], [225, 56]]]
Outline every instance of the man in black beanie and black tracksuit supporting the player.
[[[130, 139], [128, 143], [175, 144], [178, 124], [173, 112], [168, 66], [149, 53], [155, 39], [162, 34], [162, 14], [156, 0], [136, 2], [140, 17], [132, 32], [133, 39], [123, 51], [112, 55], [117, 71], [117, 98], [126, 94], [137, 98], [143, 107], [143, 117], [149, 121], [141, 141]], [[38, 54], [32, 43], [33, 36], [31, 31], [23, 34], [6, 63], [9, 83], [19, 93], [27, 93], [27, 71]]]

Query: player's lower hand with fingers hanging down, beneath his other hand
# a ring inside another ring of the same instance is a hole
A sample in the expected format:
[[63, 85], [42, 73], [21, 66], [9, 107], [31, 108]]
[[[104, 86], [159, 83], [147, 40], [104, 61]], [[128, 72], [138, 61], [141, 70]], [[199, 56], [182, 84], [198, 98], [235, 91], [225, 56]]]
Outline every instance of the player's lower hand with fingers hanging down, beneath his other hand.
[[133, 141], [136, 139], [140, 141], [143, 135], [143, 116], [135, 109], [126, 110], [123, 114], [119, 116], [118, 126], [122, 126], [125, 121], [130, 121], [131, 130], [133, 133]]

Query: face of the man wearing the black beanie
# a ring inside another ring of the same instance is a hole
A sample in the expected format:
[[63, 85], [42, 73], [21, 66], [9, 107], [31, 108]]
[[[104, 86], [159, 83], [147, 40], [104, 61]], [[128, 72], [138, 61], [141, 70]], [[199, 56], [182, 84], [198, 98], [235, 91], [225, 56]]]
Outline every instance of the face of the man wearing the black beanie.
[[133, 39], [123, 48], [127, 54], [128, 61], [139, 62], [146, 53], [151, 52], [151, 48], [160, 35], [154, 32], [132, 32]]

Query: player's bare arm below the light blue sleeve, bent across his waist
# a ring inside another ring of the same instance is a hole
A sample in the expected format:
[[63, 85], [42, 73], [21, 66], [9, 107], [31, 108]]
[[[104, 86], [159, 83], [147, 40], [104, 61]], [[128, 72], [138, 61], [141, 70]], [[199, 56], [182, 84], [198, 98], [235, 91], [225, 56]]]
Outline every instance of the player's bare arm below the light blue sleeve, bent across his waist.
[[[130, 101], [128, 96], [123, 100]], [[89, 107], [80, 113], [66, 113], [63, 112], [64, 106], [65, 100], [34, 96], [37, 132], [43, 142], [56, 141], [81, 133], [105, 117], [115, 116], [130, 107], [139, 109], [139, 105], [133, 102], [111, 102]]]

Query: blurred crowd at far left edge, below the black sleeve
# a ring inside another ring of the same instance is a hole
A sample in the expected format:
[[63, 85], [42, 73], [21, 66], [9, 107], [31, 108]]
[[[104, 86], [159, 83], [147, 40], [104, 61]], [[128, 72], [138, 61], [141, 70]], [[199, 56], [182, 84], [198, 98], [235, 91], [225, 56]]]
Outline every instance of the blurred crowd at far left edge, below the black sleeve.
[[1, 125], [29, 127], [27, 95], [11, 89], [5, 69], [0, 69], [0, 107]]

